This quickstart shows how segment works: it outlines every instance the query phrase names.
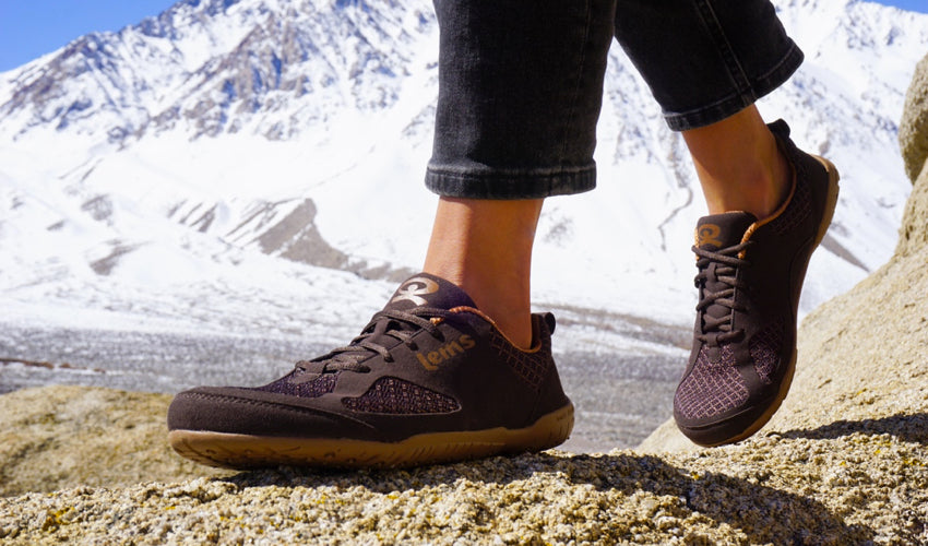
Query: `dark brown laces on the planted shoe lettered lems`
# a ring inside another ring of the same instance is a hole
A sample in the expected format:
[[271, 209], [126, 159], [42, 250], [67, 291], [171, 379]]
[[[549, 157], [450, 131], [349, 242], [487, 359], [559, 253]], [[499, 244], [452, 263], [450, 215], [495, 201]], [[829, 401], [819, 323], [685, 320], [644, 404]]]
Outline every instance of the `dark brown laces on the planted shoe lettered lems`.
[[[443, 335], [438, 329], [440, 319], [447, 318], [450, 311], [429, 307], [416, 307], [409, 311], [385, 309], [376, 313], [370, 322], [361, 331], [361, 334], [352, 340], [348, 345], [330, 351], [326, 355], [312, 360], [299, 360], [296, 363], [297, 370], [310, 373], [324, 373], [326, 371], [357, 371], [368, 372], [370, 367], [362, 364], [371, 355], [380, 355], [386, 363], [393, 361], [390, 347], [385, 344], [390, 340], [405, 344], [409, 349], [416, 351], [416, 342], [413, 335], [425, 330], [433, 337], [442, 340]], [[395, 346], [395, 343], [390, 343]]]

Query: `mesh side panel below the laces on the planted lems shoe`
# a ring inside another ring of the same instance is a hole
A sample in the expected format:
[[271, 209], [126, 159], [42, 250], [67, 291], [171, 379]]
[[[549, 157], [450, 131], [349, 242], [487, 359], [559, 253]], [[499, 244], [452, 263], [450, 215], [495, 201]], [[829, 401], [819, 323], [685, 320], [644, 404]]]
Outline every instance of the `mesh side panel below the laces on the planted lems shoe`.
[[451, 396], [396, 378], [378, 379], [361, 396], [343, 399], [348, 410], [385, 414], [451, 413], [461, 406]]

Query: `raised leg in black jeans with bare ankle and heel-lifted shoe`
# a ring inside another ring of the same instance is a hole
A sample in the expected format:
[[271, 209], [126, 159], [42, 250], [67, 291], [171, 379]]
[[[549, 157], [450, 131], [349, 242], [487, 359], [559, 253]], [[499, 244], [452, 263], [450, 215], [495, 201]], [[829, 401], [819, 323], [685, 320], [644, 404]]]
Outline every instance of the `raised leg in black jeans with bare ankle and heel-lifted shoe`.
[[697, 226], [699, 305], [674, 415], [697, 443], [738, 441], [788, 391], [799, 292], [837, 171], [753, 107], [802, 58], [769, 1], [620, 1], [616, 35], [683, 132], [711, 213]]

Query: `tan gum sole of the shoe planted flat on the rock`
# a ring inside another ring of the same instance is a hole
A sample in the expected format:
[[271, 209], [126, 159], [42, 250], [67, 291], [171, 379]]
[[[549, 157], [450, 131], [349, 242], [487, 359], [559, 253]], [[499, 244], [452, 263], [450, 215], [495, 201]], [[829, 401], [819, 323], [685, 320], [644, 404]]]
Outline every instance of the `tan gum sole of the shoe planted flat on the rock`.
[[234, 470], [278, 465], [319, 467], [400, 467], [543, 451], [563, 443], [573, 429], [573, 404], [521, 429], [491, 428], [429, 432], [397, 442], [349, 438], [276, 438], [202, 430], [172, 430], [178, 454], [209, 466]]

